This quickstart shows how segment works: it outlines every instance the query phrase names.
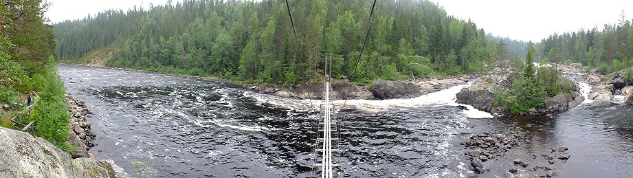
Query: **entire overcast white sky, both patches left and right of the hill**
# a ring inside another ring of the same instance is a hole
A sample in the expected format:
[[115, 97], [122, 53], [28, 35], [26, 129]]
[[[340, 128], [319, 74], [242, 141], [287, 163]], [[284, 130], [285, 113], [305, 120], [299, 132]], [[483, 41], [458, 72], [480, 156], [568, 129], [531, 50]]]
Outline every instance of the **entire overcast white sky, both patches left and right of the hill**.
[[[52, 1], [52, 0], [49, 0]], [[173, 0], [175, 3], [177, 0]], [[342, 0], [344, 1], [344, 0]], [[630, 0], [431, 0], [443, 6], [449, 15], [471, 19], [478, 27], [496, 36], [509, 36], [522, 41], [539, 42], [558, 32], [591, 29], [602, 30], [605, 23], [617, 23], [622, 10], [626, 19], [633, 16]], [[134, 5], [162, 5], [166, 0], [54, 0], [45, 14], [52, 23], [82, 19], [108, 9], [128, 10]]]

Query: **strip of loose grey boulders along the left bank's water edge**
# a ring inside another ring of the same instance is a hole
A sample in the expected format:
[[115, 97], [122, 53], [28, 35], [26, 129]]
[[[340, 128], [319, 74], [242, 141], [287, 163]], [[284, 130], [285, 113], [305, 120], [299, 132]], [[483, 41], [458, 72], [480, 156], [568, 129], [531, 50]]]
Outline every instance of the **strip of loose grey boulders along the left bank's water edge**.
[[83, 101], [76, 100], [69, 94], [66, 94], [66, 100], [69, 102], [68, 111], [72, 113], [68, 123], [68, 140], [67, 143], [74, 147], [72, 157], [94, 157], [90, 148], [95, 146], [93, 141], [96, 135], [91, 131], [90, 122], [87, 118], [91, 118], [92, 111], [88, 109]]

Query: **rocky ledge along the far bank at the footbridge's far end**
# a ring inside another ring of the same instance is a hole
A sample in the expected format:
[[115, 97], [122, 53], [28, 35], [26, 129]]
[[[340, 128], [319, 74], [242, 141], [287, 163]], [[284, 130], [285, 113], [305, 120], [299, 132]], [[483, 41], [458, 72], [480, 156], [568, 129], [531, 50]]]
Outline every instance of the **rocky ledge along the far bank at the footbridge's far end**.
[[[358, 86], [349, 80], [332, 82], [331, 96], [334, 99], [388, 100], [394, 98], [414, 98], [427, 93], [447, 89], [464, 84], [476, 78], [476, 75], [464, 75], [446, 78], [423, 78], [400, 81], [376, 80], [370, 85]], [[311, 80], [306, 85], [291, 87], [289, 85], [257, 85], [252, 87], [260, 93], [271, 94], [282, 98], [321, 99], [323, 82]]]

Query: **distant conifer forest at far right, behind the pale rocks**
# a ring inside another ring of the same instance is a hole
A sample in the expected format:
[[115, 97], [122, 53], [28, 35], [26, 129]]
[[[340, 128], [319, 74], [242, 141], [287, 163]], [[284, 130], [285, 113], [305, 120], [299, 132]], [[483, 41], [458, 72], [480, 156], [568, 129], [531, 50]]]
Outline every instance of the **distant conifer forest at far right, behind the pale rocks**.
[[[549, 62], [582, 63], [601, 74], [633, 66], [633, 27], [622, 12], [617, 24], [605, 24], [602, 30], [552, 34], [537, 45], [540, 58]], [[630, 69], [629, 69], [630, 70]]]

